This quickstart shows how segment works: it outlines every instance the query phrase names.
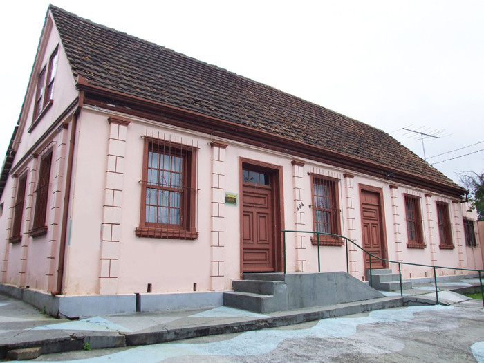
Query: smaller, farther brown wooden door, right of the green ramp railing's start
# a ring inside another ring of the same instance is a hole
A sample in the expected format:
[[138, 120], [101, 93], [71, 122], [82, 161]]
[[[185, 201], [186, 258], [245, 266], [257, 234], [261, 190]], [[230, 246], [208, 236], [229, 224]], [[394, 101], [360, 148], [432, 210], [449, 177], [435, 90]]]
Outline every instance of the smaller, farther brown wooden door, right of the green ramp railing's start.
[[[362, 208], [363, 248], [374, 256], [385, 259], [380, 193], [361, 190], [360, 202]], [[369, 255], [365, 253], [364, 257], [365, 268], [370, 268]], [[385, 266], [384, 261], [372, 257], [371, 268], [385, 268]]]

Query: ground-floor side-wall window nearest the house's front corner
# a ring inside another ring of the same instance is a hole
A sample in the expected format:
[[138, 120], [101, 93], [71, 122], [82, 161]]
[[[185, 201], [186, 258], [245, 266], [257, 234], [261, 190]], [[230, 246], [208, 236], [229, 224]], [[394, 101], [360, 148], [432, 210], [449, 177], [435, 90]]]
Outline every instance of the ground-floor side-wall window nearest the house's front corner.
[[39, 178], [34, 192], [34, 215], [30, 236], [37, 237], [47, 233], [46, 216], [48, 203], [48, 187], [50, 182], [50, 165], [52, 165], [52, 148], [40, 156]]

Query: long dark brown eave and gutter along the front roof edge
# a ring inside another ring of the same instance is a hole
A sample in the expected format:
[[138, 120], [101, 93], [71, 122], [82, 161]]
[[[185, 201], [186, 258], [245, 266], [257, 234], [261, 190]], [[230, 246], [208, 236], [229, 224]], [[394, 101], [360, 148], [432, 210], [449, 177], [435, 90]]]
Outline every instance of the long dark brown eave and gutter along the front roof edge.
[[[122, 107], [122, 109], [120, 109], [120, 107], [114, 106], [115, 109], [118, 109], [118, 111], [123, 113], [145, 116], [152, 120], [175, 124], [180, 127], [186, 127], [188, 129], [201, 131], [207, 134], [211, 134], [214, 131], [223, 129], [223, 138], [246, 142], [250, 145], [265, 147], [266, 149], [272, 149], [274, 151], [281, 151], [287, 153], [288, 155], [299, 158], [308, 158], [317, 162], [324, 162], [329, 165], [343, 167], [351, 171], [376, 176], [378, 178], [384, 178], [389, 180], [391, 183], [412, 185], [414, 187], [436, 192], [438, 194], [445, 194], [452, 198], [458, 199], [459, 201], [462, 199], [463, 194], [465, 194], [465, 189], [459, 187], [458, 185], [452, 186], [446, 183], [439, 183], [436, 180], [423, 178], [422, 176], [411, 174], [407, 171], [401, 171], [399, 169], [391, 168], [387, 165], [381, 165], [377, 162], [364, 160], [362, 158], [347, 156], [342, 153], [323, 149], [322, 147], [315, 147], [313, 145], [308, 145], [304, 142], [292, 140], [290, 138], [269, 133], [267, 131], [253, 129], [241, 124], [235, 124], [234, 122], [203, 115], [194, 111], [179, 109], [174, 106], [146, 100], [144, 98], [128, 95], [119, 91], [112, 91], [100, 86], [93, 86], [92, 84], [89, 84], [89, 82], [87, 82], [82, 76], [77, 78], [77, 88], [86, 92], [86, 104], [95, 104], [96, 96], [109, 97], [113, 101], [118, 100], [118, 102], [138, 106], [138, 111], [134, 107], [131, 109]], [[108, 105], [102, 104], [102, 106]], [[108, 108], [109, 107], [111, 106], [108, 106]], [[139, 109], [144, 109], [145, 111], [139, 111]]]

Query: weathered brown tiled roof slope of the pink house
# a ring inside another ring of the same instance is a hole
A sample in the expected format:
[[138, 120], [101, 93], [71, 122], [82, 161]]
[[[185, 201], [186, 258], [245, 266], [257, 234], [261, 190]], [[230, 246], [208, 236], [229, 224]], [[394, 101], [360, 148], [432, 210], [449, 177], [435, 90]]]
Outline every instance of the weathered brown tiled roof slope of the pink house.
[[93, 86], [268, 131], [457, 187], [380, 129], [55, 6], [49, 9], [73, 74]]

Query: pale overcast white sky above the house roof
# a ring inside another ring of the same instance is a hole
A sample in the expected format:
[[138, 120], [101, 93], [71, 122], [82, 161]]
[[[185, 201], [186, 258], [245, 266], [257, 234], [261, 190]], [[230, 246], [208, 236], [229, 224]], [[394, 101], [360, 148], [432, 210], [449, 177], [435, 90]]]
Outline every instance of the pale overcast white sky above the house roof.
[[[0, 158], [48, 4], [2, 3]], [[402, 128], [440, 136], [424, 140], [427, 161], [456, 182], [484, 171], [484, 1], [53, 4], [371, 124], [421, 157], [420, 136]]]

